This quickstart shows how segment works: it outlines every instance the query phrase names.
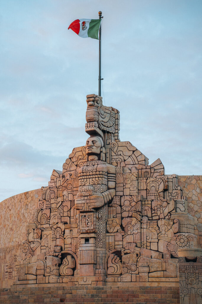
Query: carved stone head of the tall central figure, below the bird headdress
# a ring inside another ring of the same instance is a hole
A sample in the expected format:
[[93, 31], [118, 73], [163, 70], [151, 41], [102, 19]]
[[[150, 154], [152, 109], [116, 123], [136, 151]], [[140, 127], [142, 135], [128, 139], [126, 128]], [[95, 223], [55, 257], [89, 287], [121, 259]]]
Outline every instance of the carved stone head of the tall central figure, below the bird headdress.
[[86, 155], [95, 155], [100, 158], [101, 152], [105, 153], [104, 142], [101, 137], [92, 136], [86, 140]]

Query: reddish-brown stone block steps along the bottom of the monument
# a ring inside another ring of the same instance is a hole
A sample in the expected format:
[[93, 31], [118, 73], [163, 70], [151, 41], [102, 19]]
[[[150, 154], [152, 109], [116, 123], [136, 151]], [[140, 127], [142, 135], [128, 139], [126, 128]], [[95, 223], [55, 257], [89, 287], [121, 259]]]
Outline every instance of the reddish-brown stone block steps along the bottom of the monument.
[[141, 286], [13, 285], [11, 288], [0, 289], [0, 303], [180, 303], [179, 283], [161, 283], [158, 287], [152, 285], [148, 282], [141, 282]]

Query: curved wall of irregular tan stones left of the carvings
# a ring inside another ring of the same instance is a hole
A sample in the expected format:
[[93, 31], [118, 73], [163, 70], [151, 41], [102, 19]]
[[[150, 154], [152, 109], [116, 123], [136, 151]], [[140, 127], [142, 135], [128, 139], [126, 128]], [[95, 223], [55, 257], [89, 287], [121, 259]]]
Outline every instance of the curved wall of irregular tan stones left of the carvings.
[[0, 203], [0, 286], [8, 286], [15, 279], [15, 267], [22, 262], [26, 226], [38, 206], [40, 190], [20, 193]]

